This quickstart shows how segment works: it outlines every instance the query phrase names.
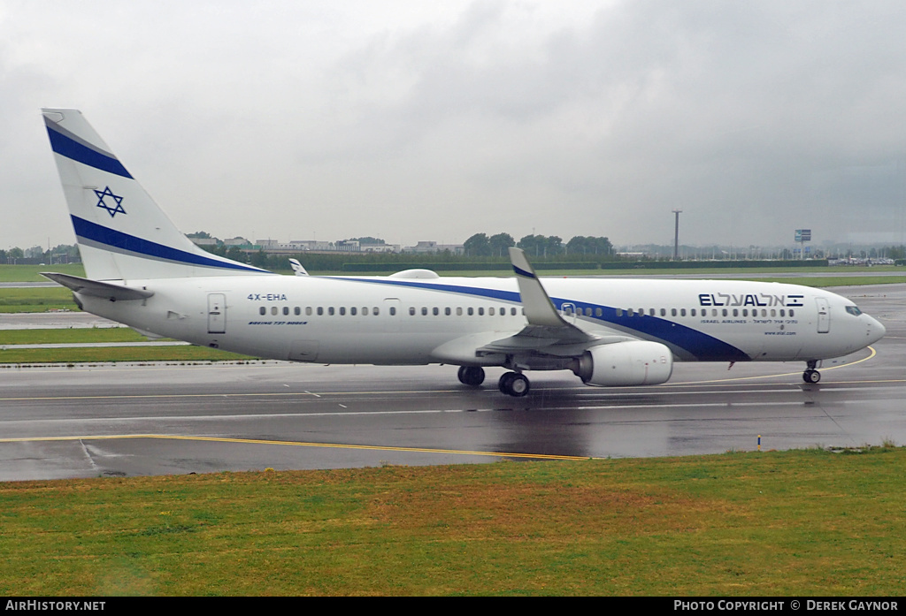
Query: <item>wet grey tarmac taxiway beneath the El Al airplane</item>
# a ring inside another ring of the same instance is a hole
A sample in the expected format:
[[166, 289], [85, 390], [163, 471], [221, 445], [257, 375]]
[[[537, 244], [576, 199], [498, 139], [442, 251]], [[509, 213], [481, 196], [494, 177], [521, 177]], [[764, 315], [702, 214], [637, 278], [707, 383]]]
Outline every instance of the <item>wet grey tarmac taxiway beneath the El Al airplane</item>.
[[837, 289], [878, 317], [874, 349], [802, 364], [678, 364], [669, 384], [530, 373], [522, 399], [455, 366], [0, 368], [0, 480], [641, 457], [906, 443], [906, 285]]

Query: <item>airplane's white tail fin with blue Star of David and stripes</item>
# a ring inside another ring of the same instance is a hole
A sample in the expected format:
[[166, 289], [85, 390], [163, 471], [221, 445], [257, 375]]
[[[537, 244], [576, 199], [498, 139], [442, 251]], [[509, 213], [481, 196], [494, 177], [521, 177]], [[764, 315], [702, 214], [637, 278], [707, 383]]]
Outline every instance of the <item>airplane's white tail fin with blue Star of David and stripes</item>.
[[198, 248], [77, 109], [42, 109], [85, 273], [92, 280], [268, 274]]

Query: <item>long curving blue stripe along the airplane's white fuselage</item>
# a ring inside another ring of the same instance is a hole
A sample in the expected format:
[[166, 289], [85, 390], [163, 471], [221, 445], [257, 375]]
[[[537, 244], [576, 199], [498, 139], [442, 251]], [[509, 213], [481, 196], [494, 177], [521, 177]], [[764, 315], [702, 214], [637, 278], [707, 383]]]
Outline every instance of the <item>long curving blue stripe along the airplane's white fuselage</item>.
[[[482, 287], [466, 287], [450, 284], [434, 284], [430, 282], [415, 282], [410, 280], [377, 280], [377, 279], [346, 279], [357, 280], [360, 282], [370, 282], [372, 284], [386, 284], [398, 287], [410, 287], [412, 289], [434, 289], [448, 293], [458, 293], [461, 295], [470, 295], [478, 298], [500, 299], [519, 303], [519, 294], [515, 291], [505, 291], [499, 289], [485, 289]], [[590, 302], [575, 301], [574, 299], [551, 298], [554, 307], [558, 310], [563, 309], [564, 304], [572, 304], [576, 308], [602, 308], [600, 317], [583, 317], [591, 318], [603, 323], [621, 327], [622, 329], [638, 332], [647, 338], [661, 340], [669, 345], [681, 348], [692, 355], [699, 361], [727, 361], [727, 362], [746, 362], [751, 361], [751, 357], [746, 355], [741, 349], [730, 345], [719, 338], [709, 336], [698, 329], [688, 327], [666, 318], [651, 317], [648, 315], [633, 317], [616, 316], [616, 309], [602, 304], [593, 304]]]

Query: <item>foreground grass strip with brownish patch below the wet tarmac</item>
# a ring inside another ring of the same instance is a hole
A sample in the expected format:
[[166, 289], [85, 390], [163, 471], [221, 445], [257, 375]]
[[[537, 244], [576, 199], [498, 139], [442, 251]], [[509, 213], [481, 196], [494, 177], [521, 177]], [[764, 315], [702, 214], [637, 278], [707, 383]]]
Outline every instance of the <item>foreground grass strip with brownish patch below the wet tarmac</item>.
[[6, 483], [0, 592], [899, 595], [904, 467], [874, 448]]

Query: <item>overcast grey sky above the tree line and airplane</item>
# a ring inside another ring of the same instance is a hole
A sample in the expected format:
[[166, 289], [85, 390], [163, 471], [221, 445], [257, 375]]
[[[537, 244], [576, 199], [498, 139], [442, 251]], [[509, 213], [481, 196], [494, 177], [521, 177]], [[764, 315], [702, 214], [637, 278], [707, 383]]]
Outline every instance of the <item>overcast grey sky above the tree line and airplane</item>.
[[906, 3], [0, 0], [0, 248], [74, 242], [41, 107], [184, 232], [906, 241]]

